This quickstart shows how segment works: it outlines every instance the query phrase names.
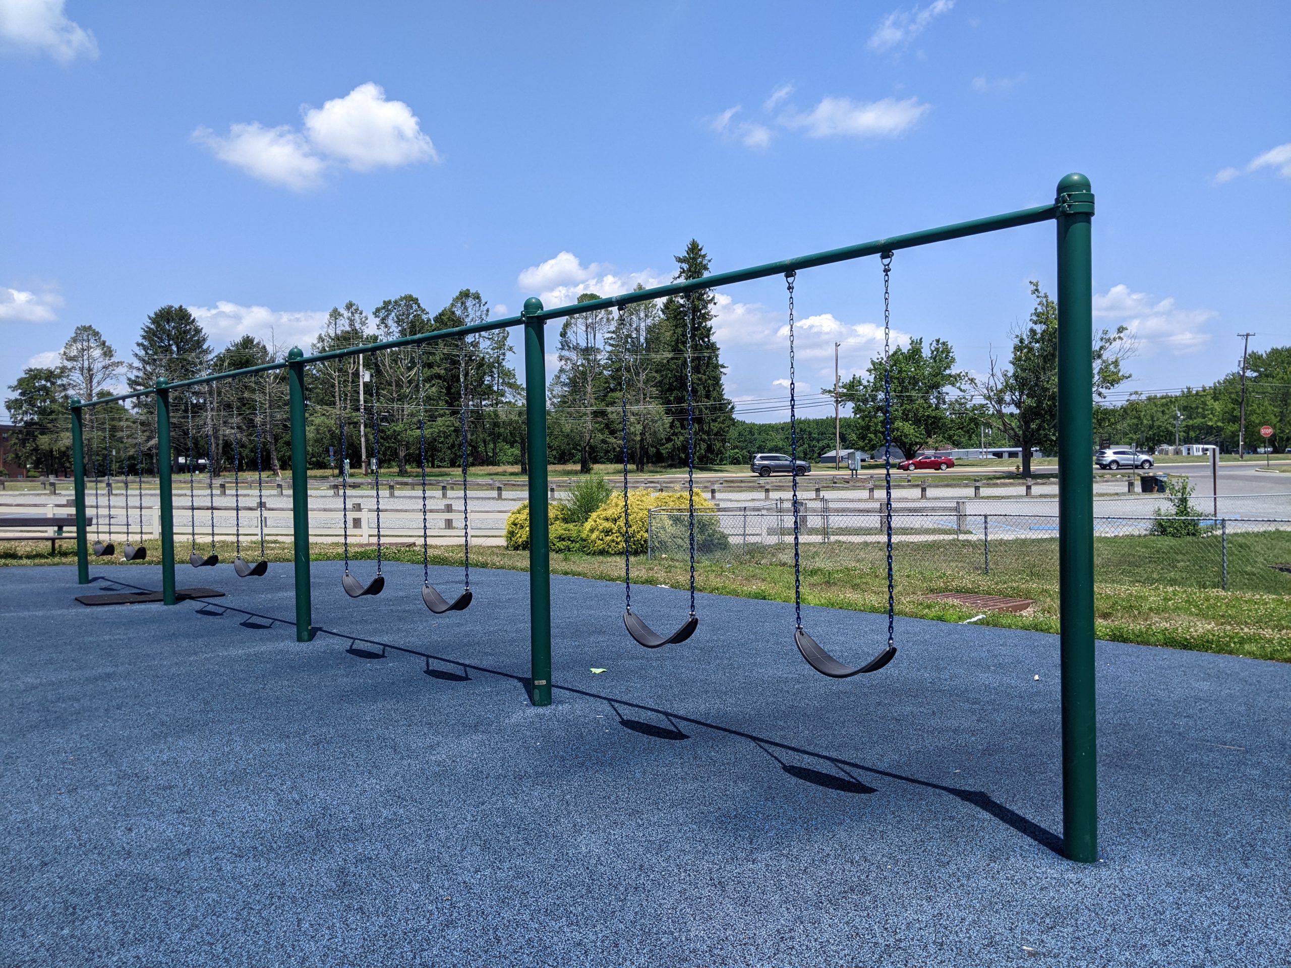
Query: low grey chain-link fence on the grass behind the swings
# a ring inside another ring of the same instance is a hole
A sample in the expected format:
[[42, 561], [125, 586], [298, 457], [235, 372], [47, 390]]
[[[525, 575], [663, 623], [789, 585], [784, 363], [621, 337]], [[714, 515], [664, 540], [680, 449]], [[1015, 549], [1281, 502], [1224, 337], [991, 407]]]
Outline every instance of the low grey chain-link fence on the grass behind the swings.
[[[1291, 518], [1117, 515], [1093, 525], [1099, 582], [1291, 594]], [[800, 502], [798, 533], [807, 568], [887, 565], [880, 503]], [[892, 537], [899, 572], [1057, 580], [1056, 514], [970, 512], [966, 502], [893, 509]], [[688, 546], [684, 509], [649, 512], [651, 558], [684, 559]], [[732, 567], [791, 565], [791, 503], [696, 515], [696, 554]]]

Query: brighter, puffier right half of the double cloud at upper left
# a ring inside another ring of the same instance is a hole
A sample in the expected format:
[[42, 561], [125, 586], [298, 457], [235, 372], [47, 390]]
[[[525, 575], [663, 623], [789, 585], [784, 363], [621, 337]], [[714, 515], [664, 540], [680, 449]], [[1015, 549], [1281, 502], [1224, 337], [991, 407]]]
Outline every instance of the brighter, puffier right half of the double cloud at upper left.
[[412, 108], [386, 101], [385, 89], [371, 81], [305, 111], [305, 134], [316, 151], [355, 172], [439, 160]]

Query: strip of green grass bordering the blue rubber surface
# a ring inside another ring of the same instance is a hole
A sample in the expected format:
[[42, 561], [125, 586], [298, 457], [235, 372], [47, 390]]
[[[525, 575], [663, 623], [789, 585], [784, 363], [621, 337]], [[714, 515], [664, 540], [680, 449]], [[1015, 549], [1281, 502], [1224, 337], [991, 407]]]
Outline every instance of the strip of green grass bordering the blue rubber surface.
[[[1095, 608], [1099, 638], [1145, 645], [1221, 652], [1254, 658], [1291, 662], [1291, 574], [1268, 568], [1273, 561], [1291, 561], [1291, 533], [1248, 533], [1229, 537], [1229, 589], [1216, 583], [1217, 550], [1211, 538], [1097, 538], [1095, 541]], [[253, 546], [252, 546], [253, 547]], [[838, 564], [811, 554], [809, 546], [803, 574], [803, 599], [808, 604], [847, 608], [861, 612], [883, 612], [887, 608], [887, 585], [883, 546], [847, 545], [853, 556]], [[842, 549], [839, 542], [835, 549]], [[1208, 549], [1207, 554], [1198, 550]], [[231, 561], [231, 543], [217, 546], [222, 561]], [[187, 569], [188, 547], [177, 549], [178, 567]], [[786, 552], [790, 555], [785, 558]], [[902, 542], [897, 547], [896, 609], [899, 614], [962, 622], [973, 612], [941, 601], [926, 601], [923, 595], [958, 591], [980, 595], [1006, 595], [1035, 601], [1028, 614], [990, 613], [981, 623], [1010, 629], [1059, 631], [1057, 539], [1035, 538], [991, 543], [991, 569], [980, 568], [980, 541]], [[155, 564], [158, 549], [150, 547], [148, 563]], [[269, 545], [271, 561], [285, 567], [292, 560], [292, 546]], [[316, 561], [341, 558], [340, 545], [315, 545]], [[374, 559], [374, 549], [351, 549], [351, 560]], [[420, 547], [385, 550], [387, 560], [421, 561]], [[461, 563], [461, 550], [431, 546], [432, 564]], [[75, 551], [70, 543], [49, 554], [49, 545], [37, 542], [5, 542], [0, 547], [0, 565], [71, 564]], [[767, 549], [757, 559], [733, 560], [729, 564], [701, 563], [696, 572], [700, 591], [772, 601], [791, 601], [794, 574], [791, 549], [781, 545]], [[527, 551], [500, 547], [471, 549], [471, 563], [483, 568], [527, 570]], [[119, 561], [93, 559], [98, 569]], [[551, 570], [607, 581], [622, 580], [622, 561], [612, 556], [555, 554]], [[684, 559], [633, 561], [633, 578], [643, 585], [684, 587]], [[1260, 587], [1268, 590], [1241, 591]], [[788, 613], [786, 613], [786, 621]], [[949, 630], [948, 630], [949, 631]]]

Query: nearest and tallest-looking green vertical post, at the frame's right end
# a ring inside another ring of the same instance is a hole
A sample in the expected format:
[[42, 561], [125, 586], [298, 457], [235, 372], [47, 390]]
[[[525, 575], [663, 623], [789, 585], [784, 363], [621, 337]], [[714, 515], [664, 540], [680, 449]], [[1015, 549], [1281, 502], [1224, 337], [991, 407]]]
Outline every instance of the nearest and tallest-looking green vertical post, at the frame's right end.
[[1093, 649], [1093, 192], [1057, 183], [1057, 480], [1062, 670], [1062, 849], [1099, 860]]

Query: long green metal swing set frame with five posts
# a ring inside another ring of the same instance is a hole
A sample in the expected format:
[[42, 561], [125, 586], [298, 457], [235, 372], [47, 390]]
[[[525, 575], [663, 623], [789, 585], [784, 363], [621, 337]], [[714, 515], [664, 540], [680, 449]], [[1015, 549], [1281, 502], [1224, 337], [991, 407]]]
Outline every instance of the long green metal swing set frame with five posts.
[[[828, 252], [771, 262], [749, 268], [719, 272], [701, 279], [684, 279], [667, 285], [624, 293], [604, 299], [544, 308], [541, 301], [527, 299], [519, 316], [493, 319], [454, 329], [369, 343], [306, 356], [293, 348], [285, 360], [250, 367], [243, 370], [217, 373], [194, 379], [169, 383], [159, 379], [154, 387], [93, 401], [71, 400], [72, 456], [76, 488], [76, 560], [77, 581], [85, 585], [89, 576], [89, 541], [85, 509], [85, 448], [83, 419], [86, 410], [117, 400], [152, 395], [158, 414], [158, 476], [161, 530], [161, 595], [168, 605], [179, 599], [174, 577], [174, 515], [172, 496], [172, 439], [170, 392], [176, 388], [200, 386], [221, 379], [231, 379], [253, 373], [287, 369], [290, 401], [292, 441], [292, 515], [294, 530], [294, 591], [296, 638], [309, 641], [314, 638], [312, 605], [310, 598], [309, 554], [309, 480], [306, 476], [306, 421], [305, 370], [306, 367], [345, 356], [381, 352], [400, 347], [422, 346], [438, 339], [522, 328], [524, 332], [525, 422], [527, 457], [529, 467], [529, 669], [531, 701], [534, 706], [551, 703], [551, 572], [549, 560], [547, 524], [547, 426], [546, 426], [546, 363], [545, 327], [549, 321], [582, 312], [615, 310], [636, 302], [647, 302], [674, 296], [686, 296], [701, 289], [715, 289], [735, 283], [784, 276], [791, 285], [798, 272], [807, 268], [878, 256], [884, 267], [884, 290], [892, 253], [933, 243], [963, 239], [1004, 228], [1055, 222], [1057, 227], [1057, 310], [1059, 310], [1059, 559], [1061, 565], [1061, 733], [1062, 733], [1062, 836], [1064, 852], [1074, 861], [1097, 860], [1097, 782], [1095, 743], [1095, 640], [1093, 640], [1093, 485], [1088, 474], [1088, 448], [1092, 439], [1092, 378], [1093, 364], [1090, 354], [1092, 341], [1092, 239], [1093, 192], [1083, 174], [1068, 174], [1057, 185], [1053, 201], [1047, 205], [979, 218], [971, 222], [941, 226], [906, 235], [848, 245]], [[886, 315], [886, 314], [884, 314]], [[790, 386], [793, 386], [790, 381]], [[692, 413], [693, 419], [693, 413]], [[797, 426], [797, 413], [791, 412]], [[463, 423], [465, 426], [465, 423]], [[343, 423], [342, 423], [343, 427]], [[191, 431], [190, 431], [191, 440]], [[797, 435], [794, 435], [797, 443]], [[191, 447], [191, 444], [190, 444]], [[208, 418], [208, 454], [209, 418]], [[210, 469], [208, 456], [208, 490]], [[92, 469], [97, 476], [97, 461]], [[191, 474], [191, 466], [187, 469]], [[191, 483], [191, 481], [190, 481]], [[97, 489], [96, 489], [97, 494]], [[797, 498], [797, 496], [795, 496]], [[191, 503], [191, 501], [190, 501]], [[795, 524], [798, 505], [794, 502]], [[191, 514], [191, 512], [190, 512]], [[626, 519], [626, 509], [625, 509]], [[96, 525], [97, 525], [96, 518]], [[693, 528], [693, 521], [692, 521]], [[207, 563], [196, 554], [194, 534], [194, 564]], [[795, 529], [797, 530], [797, 529]], [[626, 536], [625, 536], [626, 537]], [[797, 537], [797, 534], [795, 534]], [[888, 527], [888, 555], [891, 563], [891, 525]], [[692, 530], [693, 542], [693, 530]], [[626, 543], [626, 542], [625, 542]], [[797, 543], [797, 542], [795, 542]], [[210, 556], [213, 558], [213, 555]], [[630, 559], [627, 561], [630, 568]], [[891, 565], [889, 565], [891, 567]], [[891, 572], [889, 572], [891, 574]], [[629, 574], [625, 574], [625, 580]], [[888, 641], [883, 652], [865, 666], [852, 669], [837, 662], [802, 627], [800, 574], [795, 581], [794, 640], [803, 657], [825, 675], [846, 678], [857, 672], [874, 671], [895, 654], [892, 640], [892, 599], [889, 585]], [[358, 583], [358, 582], [356, 582]], [[626, 582], [625, 582], [626, 583]], [[429, 586], [429, 581], [426, 582]], [[360, 586], [360, 590], [363, 586]], [[693, 585], [692, 585], [693, 589]], [[430, 603], [427, 603], [430, 604]], [[434, 610], [434, 609], [432, 609]], [[625, 614], [635, 617], [630, 608]], [[665, 641], [682, 641], [695, 631], [687, 626], [697, 623], [692, 600], [691, 614], [683, 627]], [[642, 623], [644, 631], [648, 626]], [[629, 631], [631, 626], [629, 625]], [[640, 631], [640, 630], [638, 630]], [[684, 635], [682, 634], [684, 631]], [[644, 632], [642, 632], [644, 636]], [[655, 635], [651, 632], [651, 635]], [[635, 634], [634, 634], [635, 636]], [[655, 638], [661, 638], [655, 635]], [[638, 640], [640, 640], [638, 638]], [[643, 643], [649, 644], [649, 643]], [[665, 643], [658, 643], [665, 644]]]

